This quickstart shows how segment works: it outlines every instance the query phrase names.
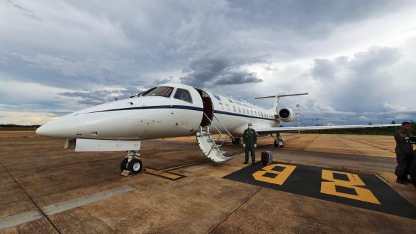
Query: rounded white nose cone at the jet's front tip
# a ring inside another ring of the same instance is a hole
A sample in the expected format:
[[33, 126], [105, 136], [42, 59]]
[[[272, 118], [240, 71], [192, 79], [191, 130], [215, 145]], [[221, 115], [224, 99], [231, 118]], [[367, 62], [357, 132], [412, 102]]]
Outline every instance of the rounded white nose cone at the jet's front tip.
[[78, 120], [76, 116], [63, 116], [36, 129], [36, 134], [57, 138], [76, 138]]

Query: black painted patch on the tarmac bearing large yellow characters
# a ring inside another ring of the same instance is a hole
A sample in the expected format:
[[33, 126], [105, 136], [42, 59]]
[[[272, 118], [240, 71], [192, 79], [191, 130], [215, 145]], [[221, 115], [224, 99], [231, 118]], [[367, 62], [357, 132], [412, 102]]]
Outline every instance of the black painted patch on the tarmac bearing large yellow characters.
[[375, 174], [257, 162], [223, 178], [416, 219], [416, 208]]

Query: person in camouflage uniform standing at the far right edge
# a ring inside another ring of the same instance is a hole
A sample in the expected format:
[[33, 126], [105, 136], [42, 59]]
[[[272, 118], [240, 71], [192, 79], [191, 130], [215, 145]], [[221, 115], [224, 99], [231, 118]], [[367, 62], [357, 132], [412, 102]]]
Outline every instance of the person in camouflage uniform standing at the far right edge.
[[395, 132], [397, 159], [395, 174], [397, 175], [396, 182], [401, 184], [410, 182], [407, 177], [410, 174], [410, 164], [413, 161], [413, 145], [407, 142], [408, 138], [412, 136], [410, 127], [412, 125], [409, 122], [403, 122], [401, 123], [401, 129]]

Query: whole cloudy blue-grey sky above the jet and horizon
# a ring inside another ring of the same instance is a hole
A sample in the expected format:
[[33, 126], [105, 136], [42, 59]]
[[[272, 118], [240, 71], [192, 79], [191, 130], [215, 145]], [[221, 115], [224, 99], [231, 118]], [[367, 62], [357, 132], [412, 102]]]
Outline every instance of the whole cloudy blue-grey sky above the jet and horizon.
[[0, 123], [43, 124], [163, 82], [301, 125], [416, 120], [415, 1], [0, 0]]

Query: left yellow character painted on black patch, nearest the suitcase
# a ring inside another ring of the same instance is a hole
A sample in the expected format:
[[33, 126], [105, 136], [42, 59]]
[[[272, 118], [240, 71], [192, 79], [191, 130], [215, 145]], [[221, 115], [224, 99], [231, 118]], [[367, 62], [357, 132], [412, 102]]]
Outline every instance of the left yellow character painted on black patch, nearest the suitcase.
[[[282, 167], [284, 170], [281, 172], [273, 170], [276, 167]], [[286, 179], [292, 174], [293, 170], [295, 170], [295, 165], [284, 165], [284, 164], [272, 164], [272, 165], [266, 165], [266, 167], [261, 168], [263, 170], [259, 170], [257, 172], [254, 172], [252, 176], [257, 181], [263, 181], [267, 183], [275, 183], [278, 185], [282, 185]], [[276, 177], [264, 177], [264, 174], [266, 173], [272, 173], [276, 174]]]

